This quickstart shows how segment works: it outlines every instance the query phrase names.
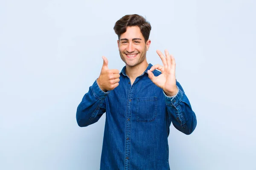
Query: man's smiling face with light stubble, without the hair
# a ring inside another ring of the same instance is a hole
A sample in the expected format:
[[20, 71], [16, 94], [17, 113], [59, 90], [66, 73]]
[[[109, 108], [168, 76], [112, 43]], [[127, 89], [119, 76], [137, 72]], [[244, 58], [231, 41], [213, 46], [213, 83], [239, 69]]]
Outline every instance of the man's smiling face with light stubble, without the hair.
[[138, 26], [127, 27], [126, 32], [120, 35], [120, 40], [117, 40], [120, 57], [130, 67], [146, 62], [150, 43], [150, 40], [145, 42]]

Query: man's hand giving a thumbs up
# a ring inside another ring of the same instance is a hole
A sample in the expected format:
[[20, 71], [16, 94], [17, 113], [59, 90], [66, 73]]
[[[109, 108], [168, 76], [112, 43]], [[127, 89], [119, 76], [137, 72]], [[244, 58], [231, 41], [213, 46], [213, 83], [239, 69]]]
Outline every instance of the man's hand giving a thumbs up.
[[102, 70], [100, 72], [99, 78], [97, 79], [97, 83], [99, 88], [102, 91], [110, 91], [116, 88], [119, 85], [119, 71], [117, 69], [108, 69], [108, 59], [106, 57], [102, 57], [103, 65]]

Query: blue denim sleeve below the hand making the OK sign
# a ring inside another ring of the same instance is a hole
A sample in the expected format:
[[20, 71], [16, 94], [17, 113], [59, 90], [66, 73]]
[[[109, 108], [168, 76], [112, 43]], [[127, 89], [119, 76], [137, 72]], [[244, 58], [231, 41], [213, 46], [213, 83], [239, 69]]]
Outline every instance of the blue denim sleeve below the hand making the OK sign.
[[178, 93], [175, 96], [169, 97], [165, 94], [169, 125], [172, 122], [177, 130], [189, 135], [195, 130], [196, 116], [180, 83], [176, 81], [176, 85]]

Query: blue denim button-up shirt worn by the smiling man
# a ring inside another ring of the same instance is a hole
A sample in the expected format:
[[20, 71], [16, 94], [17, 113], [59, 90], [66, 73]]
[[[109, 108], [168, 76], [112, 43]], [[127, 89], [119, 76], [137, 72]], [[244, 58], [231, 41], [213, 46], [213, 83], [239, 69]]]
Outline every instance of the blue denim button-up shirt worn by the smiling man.
[[[195, 113], [180, 83], [176, 81], [176, 96], [166, 96], [148, 78], [151, 67], [149, 64], [133, 85], [124, 67], [119, 86], [106, 93], [95, 81], [77, 108], [80, 127], [97, 122], [106, 113], [102, 170], [169, 170], [171, 122], [185, 134], [196, 127]], [[161, 72], [154, 70], [153, 74]]]

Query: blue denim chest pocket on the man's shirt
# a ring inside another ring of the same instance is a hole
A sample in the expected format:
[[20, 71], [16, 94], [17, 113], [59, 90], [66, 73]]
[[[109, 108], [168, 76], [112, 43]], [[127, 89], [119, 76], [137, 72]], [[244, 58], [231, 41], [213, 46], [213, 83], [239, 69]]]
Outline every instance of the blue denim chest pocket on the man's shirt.
[[139, 122], [151, 122], [157, 116], [157, 97], [140, 97], [136, 102], [136, 117]]

